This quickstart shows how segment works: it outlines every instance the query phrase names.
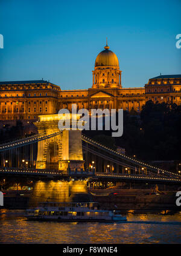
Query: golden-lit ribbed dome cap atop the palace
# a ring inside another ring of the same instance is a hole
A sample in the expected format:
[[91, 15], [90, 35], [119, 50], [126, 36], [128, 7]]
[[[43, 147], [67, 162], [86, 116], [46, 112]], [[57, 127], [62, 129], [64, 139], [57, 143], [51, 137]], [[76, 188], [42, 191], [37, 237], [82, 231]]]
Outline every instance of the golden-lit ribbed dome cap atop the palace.
[[109, 46], [106, 45], [104, 47], [104, 51], [101, 51], [96, 60], [95, 60], [95, 67], [100, 66], [113, 66], [113, 67], [119, 67], [119, 61], [118, 57], [116, 56], [113, 51], [109, 50]]

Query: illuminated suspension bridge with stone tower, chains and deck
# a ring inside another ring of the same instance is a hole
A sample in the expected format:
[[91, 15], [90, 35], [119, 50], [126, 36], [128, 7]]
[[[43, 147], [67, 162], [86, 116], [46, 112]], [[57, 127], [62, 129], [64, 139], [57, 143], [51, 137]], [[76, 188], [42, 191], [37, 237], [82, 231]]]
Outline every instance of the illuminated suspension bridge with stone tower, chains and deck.
[[[44, 191], [44, 195], [47, 187], [40, 186], [42, 181], [49, 187], [51, 183], [51, 189], [57, 187], [57, 182], [68, 183], [64, 194], [75, 188], [86, 192], [87, 180], [178, 185], [181, 182], [176, 173], [118, 153], [84, 136], [80, 130], [60, 131], [58, 122], [58, 114], [40, 116], [34, 123], [38, 134], [0, 145], [0, 176], [30, 177], [36, 180], [35, 191]], [[59, 194], [59, 189], [55, 191]], [[68, 195], [62, 200], [65, 198]]]

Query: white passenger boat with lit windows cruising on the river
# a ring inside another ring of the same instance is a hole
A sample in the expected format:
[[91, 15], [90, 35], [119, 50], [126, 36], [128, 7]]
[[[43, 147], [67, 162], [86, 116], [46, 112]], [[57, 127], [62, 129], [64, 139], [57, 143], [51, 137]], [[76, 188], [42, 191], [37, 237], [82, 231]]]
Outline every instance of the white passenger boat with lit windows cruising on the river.
[[43, 202], [37, 208], [27, 209], [27, 220], [58, 222], [125, 222], [118, 211], [98, 209], [95, 203]]

